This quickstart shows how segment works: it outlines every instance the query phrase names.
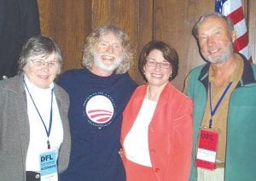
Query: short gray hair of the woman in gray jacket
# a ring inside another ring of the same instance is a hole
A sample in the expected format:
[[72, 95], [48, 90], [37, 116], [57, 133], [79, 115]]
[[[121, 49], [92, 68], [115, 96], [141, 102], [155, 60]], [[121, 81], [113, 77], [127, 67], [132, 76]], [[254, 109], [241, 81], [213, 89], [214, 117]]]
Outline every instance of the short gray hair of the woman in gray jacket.
[[38, 35], [29, 38], [21, 48], [18, 74], [25, 71], [24, 68], [33, 57], [42, 56], [47, 58], [52, 53], [55, 53], [55, 60], [59, 63], [58, 74], [60, 74], [63, 59], [59, 45], [51, 37]]

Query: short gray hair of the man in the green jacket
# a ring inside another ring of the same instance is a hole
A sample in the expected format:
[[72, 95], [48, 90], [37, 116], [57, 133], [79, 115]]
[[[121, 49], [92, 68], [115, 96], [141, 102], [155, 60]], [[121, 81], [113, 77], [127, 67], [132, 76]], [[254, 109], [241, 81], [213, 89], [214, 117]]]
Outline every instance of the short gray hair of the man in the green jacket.
[[234, 24], [233, 24], [232, 20], [230, 20], [227, 16], [224, 16], [223, 14], [219, 14], [219, 13], [215, 13], [215, 12], [210, 12], [210, 13], [201, 15], [199, 20], [196, 21], [196, 23], [193, 27], [193, 30], [192, 30], [193, 35], [195, 36], [196, 39], [198, 39], [198, 28], [209, 17], [217, 17], [221, 20], [224, 20], [225, 24], [227, 25], [227, 27], [230, 30], [230, 33], [232, 31], [234, 31]]

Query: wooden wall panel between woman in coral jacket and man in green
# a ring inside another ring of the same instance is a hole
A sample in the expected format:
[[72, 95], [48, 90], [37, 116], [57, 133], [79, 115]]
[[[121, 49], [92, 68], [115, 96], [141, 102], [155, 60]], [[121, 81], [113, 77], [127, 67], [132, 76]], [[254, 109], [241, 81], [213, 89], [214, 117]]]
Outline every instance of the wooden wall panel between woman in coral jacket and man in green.
[[176, 48], [179, 71], [172, 83], [179, 89], [183, 88], [183, 81], [190, 69], [204, 62], [191, 32], [201, 12], [212, 9], [213, 3], [196, 0], [156, 1], [154, 39], [165, 41]]

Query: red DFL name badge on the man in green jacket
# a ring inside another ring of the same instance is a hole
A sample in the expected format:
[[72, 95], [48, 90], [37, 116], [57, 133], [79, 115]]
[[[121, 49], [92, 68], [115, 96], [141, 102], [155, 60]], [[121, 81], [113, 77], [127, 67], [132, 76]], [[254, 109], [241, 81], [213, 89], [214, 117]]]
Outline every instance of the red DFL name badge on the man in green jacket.
[[214, 130], [201, 128], [197, 154], [195, 159], [196, 167], [213, 170], [216, 167], [216, 156], [218, 149], [219, 133]]

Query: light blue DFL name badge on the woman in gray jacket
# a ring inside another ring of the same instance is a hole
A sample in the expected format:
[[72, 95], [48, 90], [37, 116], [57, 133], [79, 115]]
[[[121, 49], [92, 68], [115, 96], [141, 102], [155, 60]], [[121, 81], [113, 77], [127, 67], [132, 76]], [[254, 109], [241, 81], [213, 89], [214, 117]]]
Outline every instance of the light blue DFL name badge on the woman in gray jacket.
[[47, 150], [40, 154], [41, 181], [58, 181], [57, 150]]

